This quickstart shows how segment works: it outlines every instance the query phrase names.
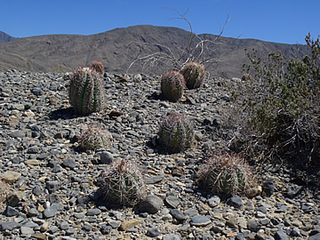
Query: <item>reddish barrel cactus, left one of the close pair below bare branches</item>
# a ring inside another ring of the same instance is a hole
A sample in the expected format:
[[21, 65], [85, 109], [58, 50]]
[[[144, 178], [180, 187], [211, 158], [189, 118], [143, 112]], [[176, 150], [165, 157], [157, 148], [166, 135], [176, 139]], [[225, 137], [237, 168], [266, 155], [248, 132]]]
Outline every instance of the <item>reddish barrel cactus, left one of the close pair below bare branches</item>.
[[166, 100], [179, 101], [182, 98], [184, 87], [184, 77], [177, 70], [168, 71], [161, 78], [161, 92]]

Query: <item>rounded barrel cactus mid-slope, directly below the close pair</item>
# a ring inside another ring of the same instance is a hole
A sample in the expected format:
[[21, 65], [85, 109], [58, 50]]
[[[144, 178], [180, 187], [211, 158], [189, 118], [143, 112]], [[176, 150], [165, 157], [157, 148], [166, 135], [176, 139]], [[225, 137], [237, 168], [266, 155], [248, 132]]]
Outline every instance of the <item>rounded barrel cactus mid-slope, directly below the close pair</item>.
[[191, 147], [194, 140], [194, 127], [184, 114], [172, 112], [164, 117], [158, 132], [160, 148], [165, 152], [177, 153]]

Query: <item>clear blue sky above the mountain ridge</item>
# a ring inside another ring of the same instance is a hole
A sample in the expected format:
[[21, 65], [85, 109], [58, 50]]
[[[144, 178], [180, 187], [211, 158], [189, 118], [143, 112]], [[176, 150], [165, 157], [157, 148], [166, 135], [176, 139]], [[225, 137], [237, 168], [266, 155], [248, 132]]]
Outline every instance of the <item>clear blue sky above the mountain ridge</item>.
[[256, 38], [304, 44], [320, 35], [319, 0], [1, 0], [0, 31], [15, 36], [92, 35], [113, 28], [149, 24], [188, 29], [196, 34]]

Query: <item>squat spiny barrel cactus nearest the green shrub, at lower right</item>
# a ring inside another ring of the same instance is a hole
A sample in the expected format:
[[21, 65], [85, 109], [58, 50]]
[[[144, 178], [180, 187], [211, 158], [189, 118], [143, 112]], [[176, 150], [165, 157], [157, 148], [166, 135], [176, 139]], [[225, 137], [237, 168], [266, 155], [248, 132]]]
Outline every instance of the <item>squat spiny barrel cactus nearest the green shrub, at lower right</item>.
[[241, 194], [252, 187], [252, 172], [240, 156], [212, 156], [200, 170], [199, 185], [220, 196]]

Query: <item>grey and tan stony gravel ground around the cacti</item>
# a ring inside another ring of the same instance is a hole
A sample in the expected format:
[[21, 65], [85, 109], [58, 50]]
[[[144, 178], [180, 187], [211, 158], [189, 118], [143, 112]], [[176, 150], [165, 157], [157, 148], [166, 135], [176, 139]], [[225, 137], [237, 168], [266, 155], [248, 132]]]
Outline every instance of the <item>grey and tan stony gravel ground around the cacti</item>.
[[[221, 126], [228, 89], [240, 79], [208, 79], [179, 103], [159, 98], [157, 76], [103, 79], [106, 109], [76, 116], [62, 74], [0, 72], [1, 177], [12, 188], [1, 205], [1, 239], [320, 239], [318, 188], [292, 180], [289, 170], [256, 172], [265, 188], [252, 198], [220, 199], [196, 187], [207, 154], [232, 138]], [[156, 132], [172, 110], [194, 121], [197, 142], [164, 155]], [[112, 148], [79, 151], [84, 124], [107, 128]], [[116, 159], [140, 165], [148, 187], [140, 209], [97, 204], [100, 172]]]

